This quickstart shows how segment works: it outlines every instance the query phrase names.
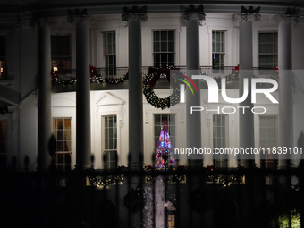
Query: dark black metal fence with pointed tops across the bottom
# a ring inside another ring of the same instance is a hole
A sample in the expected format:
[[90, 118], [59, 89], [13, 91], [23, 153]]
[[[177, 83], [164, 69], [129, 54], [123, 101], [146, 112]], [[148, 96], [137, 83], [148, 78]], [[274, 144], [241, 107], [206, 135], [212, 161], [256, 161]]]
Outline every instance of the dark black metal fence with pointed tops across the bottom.
[[4, 171], [0, 227], [304, 227], [303, 169]]

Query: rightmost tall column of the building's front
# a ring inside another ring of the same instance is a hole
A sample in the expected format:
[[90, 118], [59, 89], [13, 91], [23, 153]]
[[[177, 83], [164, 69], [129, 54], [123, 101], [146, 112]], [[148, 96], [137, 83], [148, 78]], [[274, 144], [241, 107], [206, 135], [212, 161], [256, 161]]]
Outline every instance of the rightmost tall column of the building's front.
[[[293, 147], [293, 97], [291, 62], [291, 21], [281, 20], [278, 27], [279, 68], [279, 136], [278, 146]], [[286, 157], [279, 159], [278, 168], [287, 165]]]

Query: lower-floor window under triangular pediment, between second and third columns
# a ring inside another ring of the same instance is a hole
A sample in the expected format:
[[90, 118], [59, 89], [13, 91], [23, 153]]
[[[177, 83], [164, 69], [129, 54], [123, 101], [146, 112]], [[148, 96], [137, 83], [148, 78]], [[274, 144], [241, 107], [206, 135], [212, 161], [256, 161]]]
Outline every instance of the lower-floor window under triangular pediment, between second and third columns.
[[117, 167], [117, 118], [116, 115], [105, 116], [104, 161], [106, 169]]

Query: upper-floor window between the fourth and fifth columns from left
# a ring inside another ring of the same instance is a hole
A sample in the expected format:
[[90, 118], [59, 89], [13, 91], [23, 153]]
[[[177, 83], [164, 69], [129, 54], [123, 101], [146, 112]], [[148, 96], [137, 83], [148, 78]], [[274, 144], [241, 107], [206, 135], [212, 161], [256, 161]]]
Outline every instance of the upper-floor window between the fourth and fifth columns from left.
[[224, 67], [225, 40], [224, 31], [212, 31], [212, 67], [221, 69]]

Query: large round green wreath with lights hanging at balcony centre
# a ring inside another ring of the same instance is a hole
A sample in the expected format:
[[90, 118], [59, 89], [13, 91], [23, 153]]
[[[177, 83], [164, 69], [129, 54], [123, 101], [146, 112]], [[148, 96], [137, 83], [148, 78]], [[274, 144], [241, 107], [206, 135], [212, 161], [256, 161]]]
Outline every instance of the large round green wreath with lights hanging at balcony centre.
[[165, 109], [170, 108], [170, 106], [175, 106], [180, 102], [180, 87], [173, 89], [172, 95], [165, 98], [160, 98], [156, 96], [154, 89], [148, 85], [148, 82], [152, 78], [153, 75], [147, 75], [143, 83], [143, 94], [150, 105], [155, 106], [156, 108]]

